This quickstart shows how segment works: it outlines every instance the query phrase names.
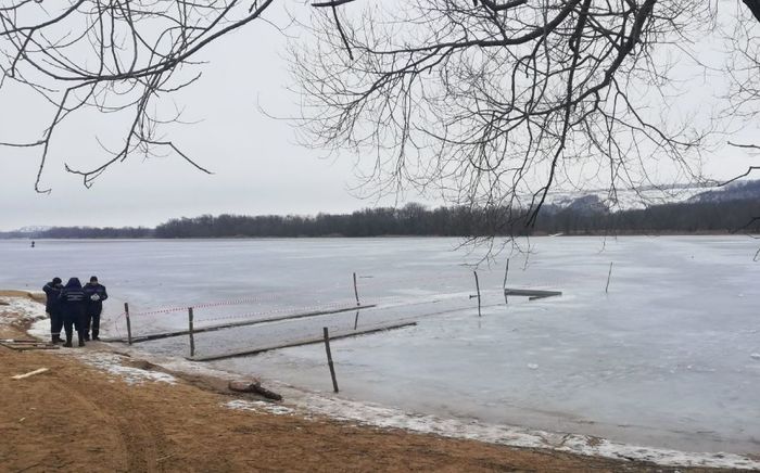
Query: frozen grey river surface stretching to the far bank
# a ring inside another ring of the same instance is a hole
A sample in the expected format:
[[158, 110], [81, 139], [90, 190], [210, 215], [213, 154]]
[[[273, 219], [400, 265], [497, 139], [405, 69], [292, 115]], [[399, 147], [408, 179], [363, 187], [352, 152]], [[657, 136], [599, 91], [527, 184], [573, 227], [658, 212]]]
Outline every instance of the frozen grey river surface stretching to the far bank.
[[[109, 289], [104, 334], [137, 334], [356, 304], [376, 308], [197, 335], [199, 355], [377, 327], [332, 342], [340, 396], [692, 451], [760, 452], [760, 241], [746, 237], [535, 238], [478, 268], [454, 239], [0, 241], [0, 287], [53, 276]], [[469, 248], [471, 250], [471, 248]], [[502, 286], [562, 291], [528, 302]], [[490, 263], [490, 265], [489, 265]], [[610, 263], [609, 292], [605, 293]], [[176, 307], [177, 310], [170, 308]], [[169, 308], [169, 309], [166, 309]], [[187, 355], [187, 337], [143, 343]], [[214, 361], [331, 392], [322, 345]]]

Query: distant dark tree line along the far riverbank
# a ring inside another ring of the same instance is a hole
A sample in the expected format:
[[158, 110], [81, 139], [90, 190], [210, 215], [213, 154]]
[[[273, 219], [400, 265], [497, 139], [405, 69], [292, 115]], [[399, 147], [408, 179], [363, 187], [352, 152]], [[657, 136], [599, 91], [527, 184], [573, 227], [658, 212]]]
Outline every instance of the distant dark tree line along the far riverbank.
[[[261, 237], [383, 237], [383, 235], [541, 235], [639, 233], [760, 233], [760, 200], [709, 201], [656, 205], [645, 209], [608, 212], [594, 196], [559, 207], [547, 205], [533, 227], [508, 208], [428, 209], [419, 204], [402, 208], [366, 208], [352, 214], [316, 216], [202, 215], [176, 218], [155, 229], [143, 227], [54, 227], [34, 234], [0, 233], [0, 238], [38, 239], [183, 239]], [[506, 223], [505, 222], [509, 222]]]

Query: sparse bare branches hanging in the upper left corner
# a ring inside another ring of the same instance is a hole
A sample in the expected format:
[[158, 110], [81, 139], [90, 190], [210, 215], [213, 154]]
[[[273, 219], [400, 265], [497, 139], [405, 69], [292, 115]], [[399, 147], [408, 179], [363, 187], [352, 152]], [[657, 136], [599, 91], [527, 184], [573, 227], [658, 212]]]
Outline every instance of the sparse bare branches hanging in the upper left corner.
[[85, 186], [134, 154], [174, 152], [202, 171], [161, 126], [179, 111], [161, 114], [162, 97], [200, 77], [197, 55], [208, 44], [259, 20], [273, 0], [10, 0], [0, 2], [0, 93], [22, 85], [52, 106], [39, 139], [7, 146], [39, 148], [38, 192], [56, 130], [69, 116], [92, 110], [125, 114], [122, 143], [92, 169], [66, 166]]

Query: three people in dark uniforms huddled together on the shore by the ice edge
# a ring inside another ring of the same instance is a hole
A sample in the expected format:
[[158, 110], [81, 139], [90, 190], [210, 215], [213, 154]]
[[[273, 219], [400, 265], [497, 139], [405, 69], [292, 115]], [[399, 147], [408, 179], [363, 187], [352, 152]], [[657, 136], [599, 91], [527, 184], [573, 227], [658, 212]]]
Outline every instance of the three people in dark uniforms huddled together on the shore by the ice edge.
[[66, 285], [61, 278], [42, 287], [48, 296], [46, 310], [50, 317], [50, 335], [53, 344], [63, 343], [61, 329], [66, 332], [66, 342], [63, 346], [72, 346], [73, 331], [76, 330], [79, 346], [85, 346], [85, 341], [100, 340], [100, 314], [103, 311], [103, 301], [109, 298], [105, 286], [98, 282], [98, 277], [90, 278], [90, 282], [84, 286], [78, 278], [72, 278]]

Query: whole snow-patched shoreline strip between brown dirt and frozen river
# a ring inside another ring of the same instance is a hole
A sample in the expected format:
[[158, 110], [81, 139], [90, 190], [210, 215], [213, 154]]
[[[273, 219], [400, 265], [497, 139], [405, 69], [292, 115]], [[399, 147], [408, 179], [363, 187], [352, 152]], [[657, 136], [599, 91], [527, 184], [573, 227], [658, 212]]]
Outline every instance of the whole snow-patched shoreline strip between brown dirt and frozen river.
[[[15, 292], [15, 295], [26, 293]], [[0, 296], [8, 294], [0, 291]], [[43, 312], [43, 310], [42, 310]], [[43, 320], [40, 325], [46, 325]], [[40, 330], [25, 330], [27, 333], [39, 335]], [[98, 349], [105, 353], [128, 357], [131, 366], [142, 366], [150, 371], [160, 371], [176, 376], [185, 382], [211, 391], [217, 394], [230, 395], [226, 389], [225, 378], [236, 376], [232, 373], [212, 370], [189, 362], [177, 357], [155, 356], [136, 349], [134, 347], [115, 347], [114, 344], [98, 344]], [[67, 351], [76, 355], [78, 349]], [[88, 349], [81, 350], [88, 351]], [[87, 362], [87, 361], [85, 361]], [[284, 392], [280, 391], [283, 389]], [[557, 453], [570, 453], [587, 456], [588, 458], [605, 458], [612, 460], [653, 462], [664, 466], [711, 466], [711, 468], [750, 468], [760, 469], [760, 462], [753, 457], [742, 457], [729, 453], [691, 453], [677, 450], [666, 450], [648, 447], [637, 447], [620, 443], [611, 443], [603, 438], [552, 433], [507, 425], [487, 425], [479, 422], [466, 422], [460, 420], [441, 419], [432, 416], [415, 416], [396, 409], [367, 402], [351, 401], [325, 396], [318, 393], [307, 393], [287, 385], [277, 385], [275, 391], [286, 395], [286, 401], [278, 407], [292, 410], [294, 416], [311, 418], [314, 416], [327, 417], [333, 421], [349, 422], [353, 425], [363, 425], [370, 429], [392, 429], [414, 432], [415, 434], [435, 435], [446, 438], [468, 438], [486, 445], [506, 446], [509, 448], [528, 448], [555, 451]], [[301, 395], [296, 395], [300, 393]], [[239, 394], [235, 394], [239, 397]], [[261, 401], [258, 401], [261, 402]], [[273, 405], [274, 406], [274, 405]], [[256, 405], [248, 405], [245, 401], [235, 405], [238, 409], [255, 409]], [[261, 406], [259, 406], [261, 407]], [[277, 410], [277, 409], [276, 409]], [[280, 409], [282, 410], [282, 409]]]

